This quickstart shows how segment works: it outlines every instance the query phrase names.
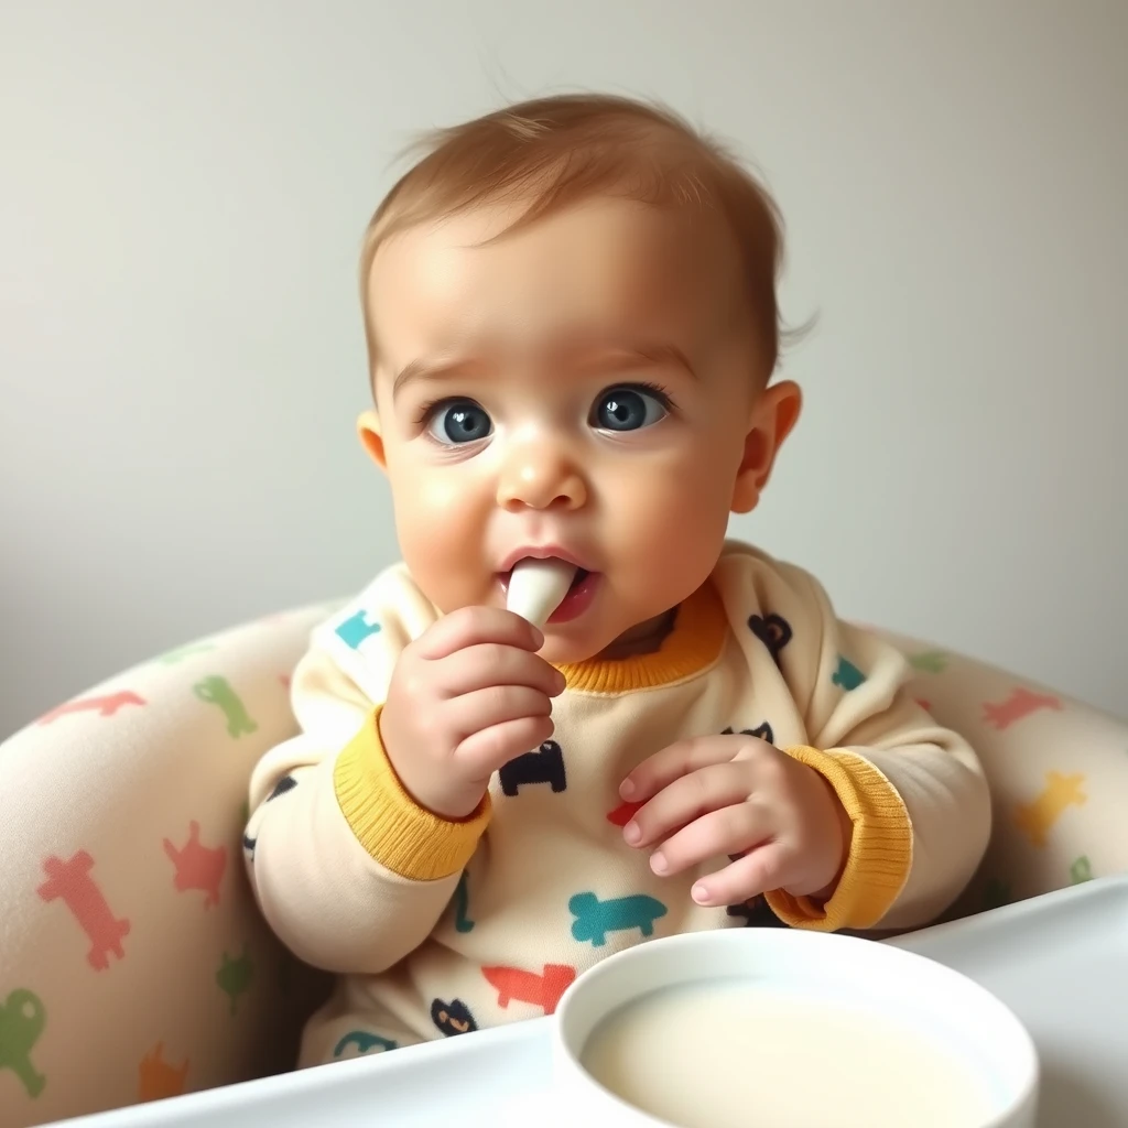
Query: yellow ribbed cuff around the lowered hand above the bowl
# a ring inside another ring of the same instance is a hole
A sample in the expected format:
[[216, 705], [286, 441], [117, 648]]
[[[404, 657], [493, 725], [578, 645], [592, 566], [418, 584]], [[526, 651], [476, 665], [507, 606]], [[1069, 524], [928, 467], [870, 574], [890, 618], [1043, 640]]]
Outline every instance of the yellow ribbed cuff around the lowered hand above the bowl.
[[893, 785], [854, 752], [802, 747], [784, 751], [834, 787], [854, 832], [838, 888], [826, 905], [792, 897], [782, 889], [766, 893], [765, 899], [792, 928], [871, 928], [897, 900], [913, 864], [913, 823], [905, 803]]

